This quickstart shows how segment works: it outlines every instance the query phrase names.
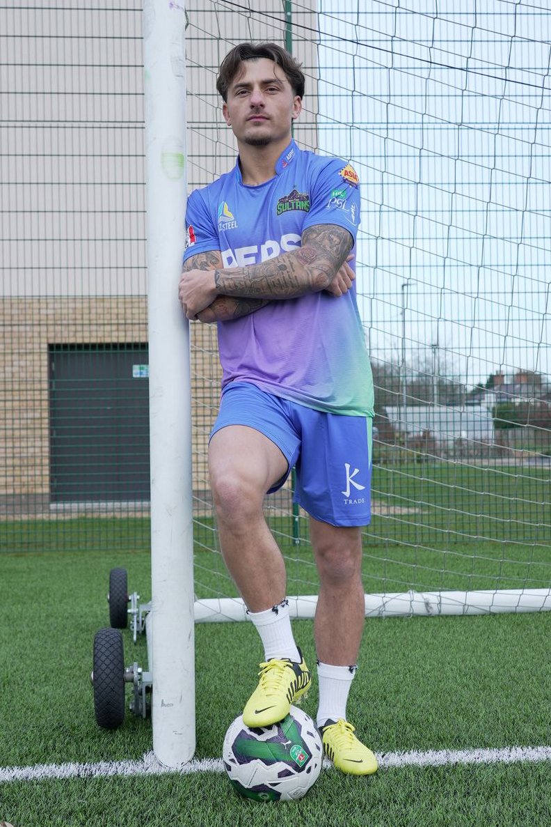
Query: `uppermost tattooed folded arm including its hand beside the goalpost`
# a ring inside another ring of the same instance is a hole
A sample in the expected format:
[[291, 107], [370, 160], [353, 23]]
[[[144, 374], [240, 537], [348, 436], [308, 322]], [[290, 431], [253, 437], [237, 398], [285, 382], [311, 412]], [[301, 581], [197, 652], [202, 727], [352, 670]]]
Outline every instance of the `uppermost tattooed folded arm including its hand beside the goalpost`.
[[[300, 247], [262, 264], [230, 269], [218, 265], [213, 270], [209, 265], [203, 271], [200, 267], [189, 267], [180, 280], [184, 312], [188, 318], [200, 318], [202, 311], [210, 308], [219, 296], [260, 301], [263, 304], [259, 306], [264, 306], [273, 299], [295, 299], [324, 289], [340, 295], [345, 292], [342, 284], [338, 292], [336, 288], [331, 289], [331, 285], [347, 266], [353, 244], [353, 237], [343, 227], [318, 224], [302, 233]], [[195, 258], [192, 256], [186, 264]]]

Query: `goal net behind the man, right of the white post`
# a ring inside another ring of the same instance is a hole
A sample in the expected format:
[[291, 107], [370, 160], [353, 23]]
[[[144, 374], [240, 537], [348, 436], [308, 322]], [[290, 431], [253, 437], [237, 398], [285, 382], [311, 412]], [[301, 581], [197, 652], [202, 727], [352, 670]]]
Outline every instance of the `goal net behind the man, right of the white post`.
[[[291, 46], [306, 71], [297, 141], [359, 173], [377, 414], [366, 614], [551, 606], [550, 26], [537, 5], [500, 0], [220, 2], [189, 14], [191, 185], [235, 162], [214, 80], [249, 39]], [[197, 608], [235, 619], [245, 610], [198, 476], [216, 414], [215, 331], [194, 333]], [[289, 594], [302, 595], [292, 606], [309, 617], [306, 515], [289, 488], [266, 514]]]

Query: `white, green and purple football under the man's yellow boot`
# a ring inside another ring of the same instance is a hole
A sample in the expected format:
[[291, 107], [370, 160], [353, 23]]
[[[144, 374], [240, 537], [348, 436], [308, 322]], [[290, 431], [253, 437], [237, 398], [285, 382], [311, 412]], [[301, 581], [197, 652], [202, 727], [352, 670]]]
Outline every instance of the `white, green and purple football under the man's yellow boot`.
[[224, 739], [224, 767], [235, 790], [255, 801], [302, 798], [321, 772], [323, 744], [296, 706], [268, 727], [250, 729], [239, 715]]

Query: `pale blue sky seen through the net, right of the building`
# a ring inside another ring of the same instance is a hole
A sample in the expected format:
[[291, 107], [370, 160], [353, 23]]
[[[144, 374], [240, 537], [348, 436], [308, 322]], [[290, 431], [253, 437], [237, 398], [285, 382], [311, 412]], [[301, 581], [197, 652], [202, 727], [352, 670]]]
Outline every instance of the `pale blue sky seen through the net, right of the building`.
[[551, 15], [405, 5], [321, 0], [320, 146], [359, 172], [373, 356], [549, 375]]

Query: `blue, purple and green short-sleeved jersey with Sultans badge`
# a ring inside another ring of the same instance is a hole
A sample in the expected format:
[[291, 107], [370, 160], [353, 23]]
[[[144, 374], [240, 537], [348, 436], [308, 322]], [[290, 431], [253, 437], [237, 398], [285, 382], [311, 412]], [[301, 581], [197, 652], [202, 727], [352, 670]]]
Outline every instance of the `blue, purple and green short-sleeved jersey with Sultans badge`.
[[[188, 198], [184, 261], [221, 251], [225, 268], [259, 264], [301, 245], [307, 227], [336, 224], [354, 238], [359, 179], [346, 161], [299, 149], [278, 159], [273, 179], [243, 184], [233, 170]], [[350, 262], [354, 265], [354, 261]], [[373, 416], [373, 378], [356, 289], [273, 300], [241, 318], [218, 323], [222, 389], [245, 381], [308, 408]]]

